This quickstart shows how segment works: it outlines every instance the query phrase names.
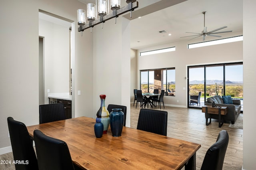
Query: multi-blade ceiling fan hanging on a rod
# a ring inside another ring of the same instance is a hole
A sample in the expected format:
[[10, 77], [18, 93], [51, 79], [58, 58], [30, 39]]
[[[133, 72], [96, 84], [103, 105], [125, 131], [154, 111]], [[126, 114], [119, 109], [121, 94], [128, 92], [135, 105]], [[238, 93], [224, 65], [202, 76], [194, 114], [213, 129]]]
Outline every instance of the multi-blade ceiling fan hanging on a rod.
[[[202, 30], [202, 33], [194, 33], [194, 32], [186, 32], [186, 33], [197, 34], [197, 35], [193, 35], [193, 36], [196, 36], [195, 38], [198, 38], [198, 37], [202, 36], [203, 37], [203, 41], [204, 41], [206, 36], [221, 37], [221, 36], [212, 35], [212, 34], [220, 34], [220, 33], [225, 33], [225, 32], [232, 32], [232, 31], [216, 32], [216, 31], [221, 30], [223, 28], [227, 28], [227, 26], [223, 26], [223, 27], [217, 28], [216, 30], [212, 30], [210, 32], [207, 32], [207, 27], [205, 26], [205, 13], [206, 13], [206, 11], [202, 12], [202, 14], [204, 14], [204, 30]], [[185, 36], [185, 37], [192, 37], [192, 36]], [[184, 37], [180, 37], [180, 38], [184, 38]], [[193, 40], [195, 38], [192, 38], [190, 40]], [[188, 41], [190, 41], [190, 40], [188, 40]]]

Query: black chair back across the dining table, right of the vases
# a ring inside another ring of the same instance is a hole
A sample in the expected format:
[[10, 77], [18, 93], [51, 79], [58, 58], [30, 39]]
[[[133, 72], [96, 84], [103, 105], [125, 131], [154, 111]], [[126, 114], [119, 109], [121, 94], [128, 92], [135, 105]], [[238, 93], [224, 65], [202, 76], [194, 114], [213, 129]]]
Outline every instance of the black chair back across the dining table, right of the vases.
[[166, 111], [140, 109], [137, 129], [166, 136], [167, 117]]

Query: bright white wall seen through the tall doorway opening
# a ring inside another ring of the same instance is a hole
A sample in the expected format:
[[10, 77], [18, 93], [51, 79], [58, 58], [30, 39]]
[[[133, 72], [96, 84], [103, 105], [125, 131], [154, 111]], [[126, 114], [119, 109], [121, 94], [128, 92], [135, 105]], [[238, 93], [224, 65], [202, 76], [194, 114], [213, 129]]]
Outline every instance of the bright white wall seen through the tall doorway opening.
[[69, 93], [69, 27], [40, 19], [39, 36], [44, 37], [44, 104], [48, 104], [48, 89]]

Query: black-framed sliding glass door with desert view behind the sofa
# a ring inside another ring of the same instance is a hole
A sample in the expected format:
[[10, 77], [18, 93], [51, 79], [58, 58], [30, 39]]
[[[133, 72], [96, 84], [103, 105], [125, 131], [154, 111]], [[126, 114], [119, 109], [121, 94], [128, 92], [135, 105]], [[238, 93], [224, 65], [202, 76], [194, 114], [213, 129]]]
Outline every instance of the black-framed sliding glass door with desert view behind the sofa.
[[[191, 100], [199, 94], [198, 102]], [[188, 107], [200, 108], [208, 97], [216, 95], [231, 95], [241, 101], [243, 109], [242, 62], [188, 66]]]

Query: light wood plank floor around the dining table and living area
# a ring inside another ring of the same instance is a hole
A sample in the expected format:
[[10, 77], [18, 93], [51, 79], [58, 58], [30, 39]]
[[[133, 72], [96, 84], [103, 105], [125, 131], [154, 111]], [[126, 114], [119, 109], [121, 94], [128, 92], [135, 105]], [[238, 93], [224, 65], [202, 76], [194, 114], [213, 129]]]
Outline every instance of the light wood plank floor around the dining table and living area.
[[[149, 108], [151, 109], [151, 108]], [[160, 110], [159, 107], [153, 109]], [[216, 142], [220, 130], [225, 129], [229, 134], [229, 143], [224, 160], [223, 170], [241, 170], [243, 164], [243, 130], [228, 127], [230, 123], [224, 123], [219, 128], [218, 122], [212, 119], [212, 123], [205, 125], [204, 113], [201, 109], [188, 109], [179, 107], [165, 107], [163, 111], [168, 112], [167, 136], [179, 138], [190, 142], [201, 144], [196, 152], [196, 169], [200, 170], [202, 161], [208, 148]], [[131, 128], [137, 128], [140, 107], [135, 109], [131, 105]], [[240, 114], [243, 116], [243, 114]], [[13, 160], [12, 152], [0, 155], [0, 160]], [[172, 160], [170, 160], [172, 161]], [[183, 168], [184, 169], [184, 168]], [[15, 170], [13, 164], [0, 164], [0, 170]]]

